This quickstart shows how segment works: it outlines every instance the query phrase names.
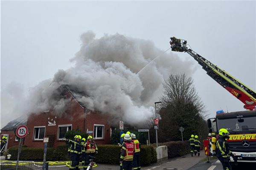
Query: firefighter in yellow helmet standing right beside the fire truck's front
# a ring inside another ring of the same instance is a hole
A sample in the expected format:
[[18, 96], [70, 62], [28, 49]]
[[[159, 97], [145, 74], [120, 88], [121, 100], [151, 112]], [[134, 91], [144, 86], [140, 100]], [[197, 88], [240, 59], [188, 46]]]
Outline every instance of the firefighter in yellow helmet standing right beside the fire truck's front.
[[237, 164], [237, 159], [230, 151], [229, 144], [226, 141], [228, 138], [229, 132], [224, 128], [220, 129], [218, 140], [216, 142], [216, 156], [221, 161], [223, 170], [232, 170], [231, 165], [229, 163], [230, 156], [234, 159], [235, 164]]

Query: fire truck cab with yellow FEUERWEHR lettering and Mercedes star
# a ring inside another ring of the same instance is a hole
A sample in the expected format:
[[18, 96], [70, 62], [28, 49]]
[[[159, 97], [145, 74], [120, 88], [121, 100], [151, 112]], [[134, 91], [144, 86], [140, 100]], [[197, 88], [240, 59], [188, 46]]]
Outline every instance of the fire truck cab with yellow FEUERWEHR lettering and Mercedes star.
[[[221, 113], [213, 119], [210, 128], [216, 132], [221, 128], [229, 131], [227, 142], [238, 162], [256, 163], [256, 110]], [[211, 121], [208, 121], [209, 124]]]

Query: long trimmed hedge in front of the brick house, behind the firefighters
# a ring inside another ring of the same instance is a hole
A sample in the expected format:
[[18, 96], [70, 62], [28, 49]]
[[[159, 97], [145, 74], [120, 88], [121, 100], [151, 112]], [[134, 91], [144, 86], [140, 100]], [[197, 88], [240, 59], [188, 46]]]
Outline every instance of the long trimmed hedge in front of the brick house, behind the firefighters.
[[[56, 148], [47, 148], [47, 161], [66, 161], [68, 145], [58, 146]], [[11, 160], [17, 160], [18, 147], [10, 147], [8, 154], [11, 154]], [[98, 145], [99, 153], [96, 155], [96, 162], [119, 164], [120, 147], [118, 145]], [[22, 147], [20, 160], [42, 161], [44, 148]], [[150, 164], [157, 161], [157, 154], [152, 146], [142, 145], [140, 152], [141, 165]]]

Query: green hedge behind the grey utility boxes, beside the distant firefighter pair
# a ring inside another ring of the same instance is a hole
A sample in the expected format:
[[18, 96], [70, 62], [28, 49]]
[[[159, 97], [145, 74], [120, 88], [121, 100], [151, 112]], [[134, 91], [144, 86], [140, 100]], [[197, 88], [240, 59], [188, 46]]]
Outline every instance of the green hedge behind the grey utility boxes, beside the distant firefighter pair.
[[[165, 143], [158, 144], [159, 146], [167, 146], [168, 149], [168, 158], [173, 158], [176, 156], [184, 156], [190, 153], [190, 145], [188, 141], [170, 141]], [[152, 144], [153, 147], [156, 147], [155, 144]]]

